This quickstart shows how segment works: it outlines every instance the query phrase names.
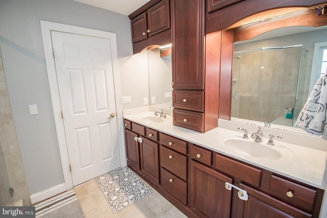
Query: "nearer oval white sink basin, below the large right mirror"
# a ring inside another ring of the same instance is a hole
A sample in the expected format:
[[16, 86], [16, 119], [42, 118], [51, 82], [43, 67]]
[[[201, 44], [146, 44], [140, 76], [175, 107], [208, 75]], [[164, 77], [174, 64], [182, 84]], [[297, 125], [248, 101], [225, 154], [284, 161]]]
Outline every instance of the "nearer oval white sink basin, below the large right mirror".
[[246, 139], [227, 139], [224, 141], [227, 148], [249, 157], [277, 160], [281, 153], [268, 147], [264, 142], [248, 141]]

